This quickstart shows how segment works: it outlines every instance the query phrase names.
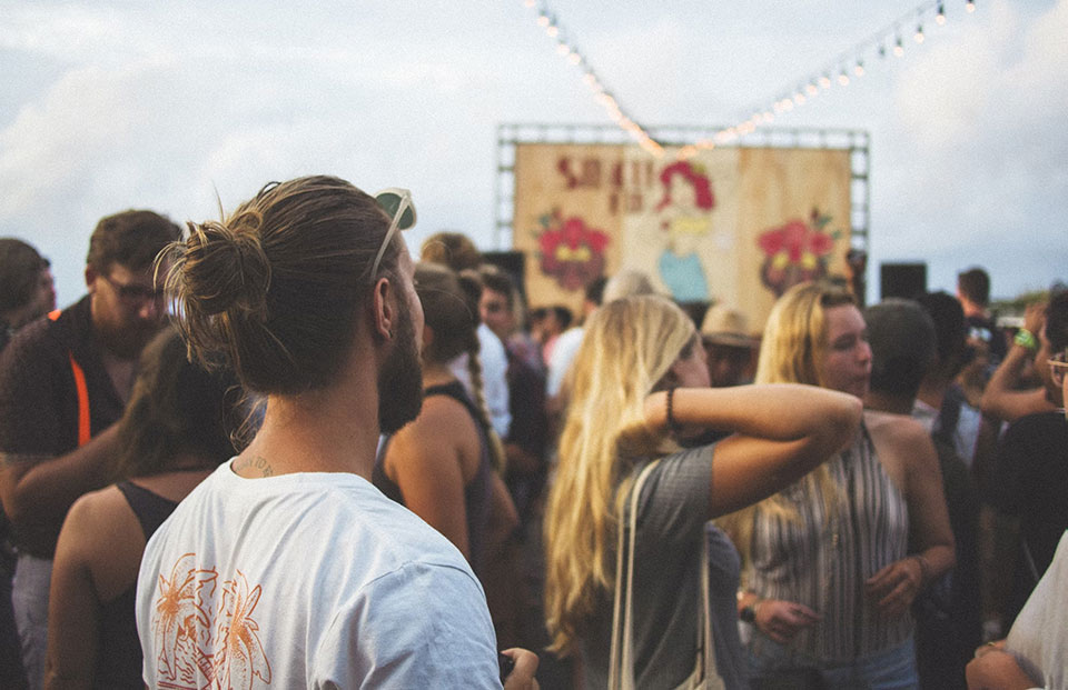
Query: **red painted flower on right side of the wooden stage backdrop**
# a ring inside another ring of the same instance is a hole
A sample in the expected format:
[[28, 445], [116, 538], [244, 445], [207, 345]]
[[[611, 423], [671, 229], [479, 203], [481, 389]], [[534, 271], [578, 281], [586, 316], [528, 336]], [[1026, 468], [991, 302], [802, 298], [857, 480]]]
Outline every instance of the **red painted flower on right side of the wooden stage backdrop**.
[[841, 232], [824, 232], [831, 222], [819, 209], [812, 209], [809, 221], [792, 219], [756, 238], [764, 252], [761, 281], [775, 297], [798, 284], [827, 276], [827, 264], [834, 241]]

